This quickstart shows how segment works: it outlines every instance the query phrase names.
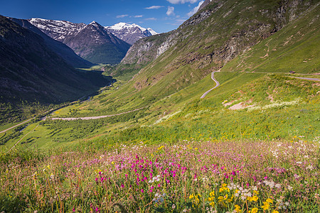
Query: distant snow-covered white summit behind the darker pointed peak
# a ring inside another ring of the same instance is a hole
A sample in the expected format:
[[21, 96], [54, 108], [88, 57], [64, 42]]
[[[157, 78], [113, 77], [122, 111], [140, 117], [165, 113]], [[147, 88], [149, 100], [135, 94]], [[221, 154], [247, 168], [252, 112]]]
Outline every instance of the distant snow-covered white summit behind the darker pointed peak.
[[156, 35], [155, 31], [151, 28], [142, 28], [141, 26], [132, 23], [117, 23], [114, 26], [106, 26], [107, 31], [110, 31], [113, 35], [117, 36], [129, 44], [134, 44], [140, 38]]

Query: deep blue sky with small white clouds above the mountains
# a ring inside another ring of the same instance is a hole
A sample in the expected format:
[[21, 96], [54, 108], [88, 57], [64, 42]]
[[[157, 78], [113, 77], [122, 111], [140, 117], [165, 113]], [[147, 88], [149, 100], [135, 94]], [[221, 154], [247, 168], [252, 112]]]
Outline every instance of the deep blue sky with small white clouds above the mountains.
[[74, 23], [97, 21], [102, 26], [137, 23], [164, 33], [178, 28], [196, 11], [201, 0], [10, 0], [0, 14], [14, 18], [46, 18]]

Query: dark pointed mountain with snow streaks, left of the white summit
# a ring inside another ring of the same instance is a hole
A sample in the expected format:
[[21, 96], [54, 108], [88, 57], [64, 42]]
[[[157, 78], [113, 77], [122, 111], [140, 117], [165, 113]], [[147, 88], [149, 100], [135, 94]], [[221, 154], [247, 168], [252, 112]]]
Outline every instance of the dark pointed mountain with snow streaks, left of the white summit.
[[51, 38], [65, 43], [80, 57], [93, 63], [117, 64], [130, 47], [95, 21], [88, 25], [42, 18], [31, 18], [29, 21]]

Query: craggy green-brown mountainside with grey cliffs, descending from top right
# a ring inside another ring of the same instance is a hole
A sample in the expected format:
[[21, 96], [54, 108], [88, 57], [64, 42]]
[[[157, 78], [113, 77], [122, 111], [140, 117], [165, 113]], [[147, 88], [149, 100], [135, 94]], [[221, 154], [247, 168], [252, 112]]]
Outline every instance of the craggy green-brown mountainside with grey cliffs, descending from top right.
[[[134, 87], [165, 88], [153, 89], [155, 95], [173, 92], [213, 70], [220, 70], [284, 26], [299, 19], [303, 21], [304, 14], [319, 9], [316, 1], [299, 0], [229, 0], [206, 1], [206, 4], [176, 31], [143, 38], [132, 45], [113, 74], [126, 72], [126, 67], [129, 72], [137, 73], [132, 67], [147, 65], [132, 80]], [[318, 19], [313, 27], [319, 32]]]

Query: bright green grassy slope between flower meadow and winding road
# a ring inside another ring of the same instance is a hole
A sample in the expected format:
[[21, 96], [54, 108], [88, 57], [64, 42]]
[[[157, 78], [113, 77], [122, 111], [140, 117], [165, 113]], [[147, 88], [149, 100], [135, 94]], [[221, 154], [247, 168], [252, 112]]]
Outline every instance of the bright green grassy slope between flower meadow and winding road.
[[[304, 136], [305, 140], [314, 140], [319, 135], [317, 109], [320, 104], [319, 95], [316, 95], [319, 84], [263, 73], [220, 72], [216, 73], [216, 78], [220, 87], [205, 99], [199, 97], [213, 87], [210, 76], [151, 104], [148, 109], [125, 116], [95, 121], [46, 121], [22, 140], [23, 146], [47, 149], [85, 143], [89, 147], [105, 147], [126, 141], [162, 143], [192, 138], [291, 139]], [[256, 109], [228, 109], [250, 99], [252, 103], [247, 105], [255, 105]], [[299, 101], [294, 102], [297, 99]], [[224, 107], [225, 101], [234, 102]], [[71, 114], [72, 109], [85, 110], [83, 107], [87, 106], [92, 107], [92, 103], [75, 104], [55, 112], [55, 116]], [[18, 138], [31, 131], [34, 125], [23, 130]], [[6, 147], [11, 147], [18, 138], [6, 143]]]

